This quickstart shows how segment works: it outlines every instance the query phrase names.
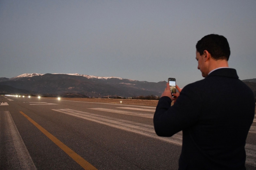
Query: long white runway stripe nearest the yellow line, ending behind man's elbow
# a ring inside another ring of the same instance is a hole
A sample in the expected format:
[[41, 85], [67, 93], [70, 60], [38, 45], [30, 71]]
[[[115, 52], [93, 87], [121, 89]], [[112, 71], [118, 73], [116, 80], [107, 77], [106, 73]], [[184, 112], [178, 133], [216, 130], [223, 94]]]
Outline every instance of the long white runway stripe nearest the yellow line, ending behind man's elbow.
[[168, 143], [172, 143], [172, 144], [175, 144], [178, 146], [182, 145], [182, 136], [181, 135], [175, 134], [174, 136], [172, 136], [170, 138], [159, 137], [156, 135], [154, 126], [152, 126], [152, 125], [132, 122], [132, 121], [128, 121], [128, 120], [116, 119], [116, 118], [101, 116], [98, 114], [82, 112], [82, 111], [77, 111], [77, 110], [72, 110], [72, 109], [52, 109], [52, 110], [58, 111], [61, 113], [65, 113], [65, 114], [68, 114], [71, 116], [75, 116], [78, 118], [97, 122], [100, 124], [105, 124], [107, 126], [125, 130], [128, 132], [141, 134], [143, 136], [147, 136], [150, 138], [159, 139], [159, 140], [162, 140], [162, 141], [165, 141]]

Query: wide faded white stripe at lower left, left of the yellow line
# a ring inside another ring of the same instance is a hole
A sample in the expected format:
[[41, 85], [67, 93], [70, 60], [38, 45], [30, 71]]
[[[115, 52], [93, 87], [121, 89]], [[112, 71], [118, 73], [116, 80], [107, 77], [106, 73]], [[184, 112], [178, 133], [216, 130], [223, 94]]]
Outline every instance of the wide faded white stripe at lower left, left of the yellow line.
[[28, 153], [28, 150], [19, 134], [19, 131], [13, 122], [9, 111], [2, 111], [0, 114], [1, 123], [3, 123], [4, 138], [8, 140], [6, 147], [9, 157], [8, 161], [14, 167], [21, 170], [36, 170], [35, 164]]

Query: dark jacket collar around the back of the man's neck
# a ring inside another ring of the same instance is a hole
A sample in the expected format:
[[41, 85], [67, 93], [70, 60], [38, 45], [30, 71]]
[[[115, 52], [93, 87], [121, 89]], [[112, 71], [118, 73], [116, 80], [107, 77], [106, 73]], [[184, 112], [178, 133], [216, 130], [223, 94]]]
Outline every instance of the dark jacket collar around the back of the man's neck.
[[235, 79], [239, 78], [237, 76], [236, 70], [231, 68], [221, 68], [221, 69], [214, 70], [207, 77], [211, 77], [211, 76], [222, 76], [222, 77], [229, 77], [229, 78], [235, 78]]

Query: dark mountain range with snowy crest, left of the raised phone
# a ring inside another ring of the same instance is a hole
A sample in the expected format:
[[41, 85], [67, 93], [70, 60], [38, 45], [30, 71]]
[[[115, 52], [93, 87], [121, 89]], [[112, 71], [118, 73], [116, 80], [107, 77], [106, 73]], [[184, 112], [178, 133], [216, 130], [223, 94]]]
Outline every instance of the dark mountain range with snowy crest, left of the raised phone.
[[[134, 97], [160, 96], [166, 81], [158, 83], [123, 79], [119, 77], [97, 77], [84, 74], [38, 74], [25, 73], [13, 78], [0, 78], [0, 85], [27, 90], [28, 93], [44, 94], [45, 96], [81, 97]], [[1, 87], [0, 87], [1, 88]], [[0, 89], [0, 92], [10, 93]]]

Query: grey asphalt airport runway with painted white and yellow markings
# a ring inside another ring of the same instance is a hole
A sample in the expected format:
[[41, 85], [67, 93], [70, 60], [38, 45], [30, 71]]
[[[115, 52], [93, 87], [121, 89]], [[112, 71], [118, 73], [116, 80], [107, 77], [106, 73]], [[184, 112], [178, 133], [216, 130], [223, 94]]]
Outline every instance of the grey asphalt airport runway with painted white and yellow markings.
[[[0, 169], [178, 169], [182, 132], [158, 137], [154, 107], [22, 96], [0, 100]], [[256, 119], [246, 153], [247, 170], [256, 170]]]

